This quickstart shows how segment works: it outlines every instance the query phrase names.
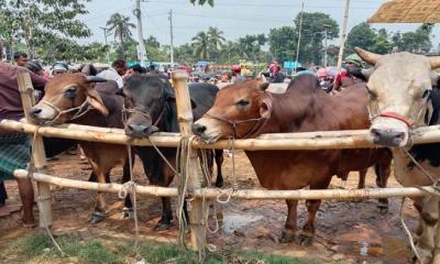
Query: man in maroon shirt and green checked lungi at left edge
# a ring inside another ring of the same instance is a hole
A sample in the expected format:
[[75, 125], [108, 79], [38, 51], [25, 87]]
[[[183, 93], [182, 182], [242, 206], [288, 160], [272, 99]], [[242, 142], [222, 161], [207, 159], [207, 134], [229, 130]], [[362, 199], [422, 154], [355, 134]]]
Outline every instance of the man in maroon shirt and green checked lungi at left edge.
[[[0, 51], [2, 51], [1, 40]], [[20, 120], [24, 117], [24, 113], [16, 81], [19, 73], [30, 73], [35, 89], [43, 90], [46, 80], [24, 67], [1, 62], [1, 58], [2, 54], [0, 53], [0, 120]], [[0, 182], [13, 179], [12, 173], [14, 169], [26, 167], [30, 161], [30, 151], [31, 145], [26, 134], [0, 129]], [[15, 179], [23, 204], [23, 226], [29, 228], [35, 227], [32, 212], [34, 201], [32, 183], [30, 179]], [[7, 198], [6, 193], [3, 193], [2, 197], [4, 204], [4, 199]]]

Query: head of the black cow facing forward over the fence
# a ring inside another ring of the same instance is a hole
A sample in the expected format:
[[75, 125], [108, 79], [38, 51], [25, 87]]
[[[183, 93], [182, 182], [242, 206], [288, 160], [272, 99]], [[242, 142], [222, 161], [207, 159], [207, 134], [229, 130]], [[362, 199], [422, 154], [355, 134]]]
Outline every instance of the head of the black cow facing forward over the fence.
[[164, 109], [175, 95], [166, 79], [154, 75], [133, 75], [127, 79], [122, 90], [124, 97], [125, 134], [146, 138], [158, 131]]

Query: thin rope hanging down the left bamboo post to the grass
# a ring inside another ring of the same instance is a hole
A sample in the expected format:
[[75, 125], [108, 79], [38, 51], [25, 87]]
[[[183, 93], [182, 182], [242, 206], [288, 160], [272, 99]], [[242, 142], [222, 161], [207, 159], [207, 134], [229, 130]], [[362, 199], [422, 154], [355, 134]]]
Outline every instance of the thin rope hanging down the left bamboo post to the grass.
[[34, 161], [34, 154], [35, 154], [35, 142], [38, 135], [38, 130], [40, 127], [36, 128], [35, 132], [34, 132], [34, 136], [32, 140], [32, 153], [31, 153], [31, 161], [29, 163], [29, 170], [28, 170], [28, 178], [30, 178], [32, 180], [32, 185], [34, 186], [35, 193], [36, 193], [36, 206], [38, 207], [38, 211], [40, 211], [40, 220], [43, 222], [44, 229], [46, 230], [47, 235], [51, 238], [52, 242], [54, 243], [55, 248], [57, 249], [57, 251], [62, 254], [63, 257], [68, 256], [63, 249], [59, 246], [59, 244], [56, 242], [54, 235], [51, 232], [51, 229], [47, 226], [46, 219], [43, 216], [43, 209], [42, 209], [42, 205], [41, 205], [41, 197], [40, 197], [40, 189], [36, 186], [36, 182], [34, 179], [34, 172], [36, 170], [35, 168], [35, 161]]

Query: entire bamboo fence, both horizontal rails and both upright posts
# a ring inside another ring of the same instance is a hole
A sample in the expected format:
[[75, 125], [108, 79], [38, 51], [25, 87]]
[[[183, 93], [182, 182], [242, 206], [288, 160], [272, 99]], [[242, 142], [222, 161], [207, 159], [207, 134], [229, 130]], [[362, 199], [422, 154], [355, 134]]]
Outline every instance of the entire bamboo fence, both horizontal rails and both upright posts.
[[[185, 133], [183, 135], [190, 135], [191, 132], [188, 129], [193, 122], [193, 114], [189, 111], [185, 111], [182, 106], [190, 106], [189, 97], [182, 97], [180, 95], [188, 94], [187, 76], [182, 72], [174, 72], [173, 77], [174, 84], [178, 89], [177, 108], [179, 111], [179, 123], [180, 131]], [[30, 85], [29, 74], [22, 74], [19, 76], [20, 89], [22, 91], [22, 100], [25, 112], [28, 112], [32, 106], [32, 85]], [[188, 109], [187, 109], [188, 110]], [[58, 125], [58, 127], [37, 127], [26, 122], [16, 122], [11, 120], [3, 120], [0, 123], [0, 128], [10, 129], [13, 131], [24, 132], [34, 134], [35, 142], [41, 136], [54, 136], [64, 139], [74, 139], [82, 141], [96, 141], [96, 142], [108, 142], [117, 144], [131, 145], [151, 145], [150, 140], [132, 140], [123, 133], [122, 130], [118, 129], [102, 129], [86, 125]], [[440, 127], [422, 128], [415, 131], [415, 143], [430, 143], [440, 142]], [[36, 133], [36, 134], [35, 134]], [[175, 133], [160, 133], [156, 136], [150, 138], [157, 146], [174, 146], [177, 147], [180, 143], [182, 136]], [[207, 145], [202, 142], [195, 141], [191, 144], [194, 148], [230, 148], [231, 141], [221, 141], [212, 145]], [[237, 140], [234, 141], [235, 150], [322, 150], [322, 148], [360, 148], [360, 147], [375, 147], [369, 140], [367, 131], [326, 131], [326, 132], [308, 132], [308, 133], [289, 133], [289, 134], [267, 134], [262, 135], [258, 139], [252, 140]], [[36, 151], [35, 151], [36, 150]], [[41, 213], [40, 223], [41, 228], [51, 228], [52, 224], [52, 207], [51, 207], [51, 189], [50, 185], [69, 188], [81, 188], [91, 189], [99, 191], [117, 193], [122, 188], [119, 184], [98, 184], [81, 180], [64, 179], [55, 176], [44, 174], [45, 155], [43, 147], [34, 146], [34, 162], [37, 173], [34, 174], [33, 179], [36, 182], [36, 194], [38, 201], [44, 201], [42, 206], [38, 206]], [[197, 158], [197, 157], [196, 157]], [[191, 158], [195, 164], [195, 157]], [[194, 173], [194, 167], [191, 169]], [[196, 172], [197, 174], [197, 172]], [[16, 169], [14, 172], [16, 177], [28, 177], [29, 172], [23, 169]], [[193, 175], [190, 180], [197, 180], [197, 175]], [[253, 190], [253, 189], [216, 189], [216, 188], [200, 188], [196, 184], [193, 184], [194, 194], [193, 206], [200, 201], [202, 198], [218, 199], [219, 197], [230, 196], [232, 198], [240, 199], [346, 199], [346, 198], [380, 198], [380, 197], [403, 197], [403, 196], [426, 196], [435, 193], [431, 187], [424, 188], [387, 188], [387, 189], [360, 189], [360, 190]], [[156, 186], [136, 186], [136, 193], [146, 194], [153, 196], [167, 196], [175, 197], [178, 194], [176, 188], [164, 188]], [[193, 202], [191, 201], [191, 202]], [[194, 207], [193, 207], [194, 208]], [[201, 210], [201, 211], [200, 211]], [[206, 207], [200, 206], [196, 215], [206, 213]], [[193, 212], [191, 212], [193, 213]], [[191, 218], [195, 216], [191, 216]], [[204, 241], [196, 239], [197, 237], [206, 235], [206, 230], [201, 230], [200, 227], [205, 228], [206, 223], [200, 223], [198, 228], [191, 229], [191, 241], [193, 249], [202, 251], [205, 249]]]

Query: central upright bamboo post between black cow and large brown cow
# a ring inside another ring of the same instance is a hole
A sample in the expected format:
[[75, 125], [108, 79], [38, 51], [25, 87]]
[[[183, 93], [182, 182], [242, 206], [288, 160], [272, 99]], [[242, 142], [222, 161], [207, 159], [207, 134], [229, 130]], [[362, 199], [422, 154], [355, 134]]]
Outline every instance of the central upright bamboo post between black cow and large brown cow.
[[[183, 70], [173, 72], [173, 85], [176, 90], [177, 120], [182, 136], [191, 135], [193, 108], [188, 90], [188, 74]], [[197, 152], [194, 151], [190, 157], [188, 172], [188, 190], [196, 190], [201, 187], [202, 177], [198, 173]], [[194, 251], [202, 252], [206, 243], [206, 227], [204, 216], [207, 210], [200, 198], [190, 202], [189, 222], [191, 248]]]

